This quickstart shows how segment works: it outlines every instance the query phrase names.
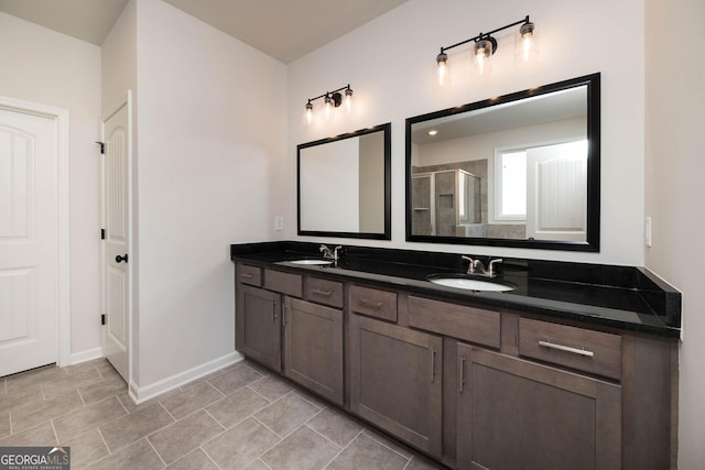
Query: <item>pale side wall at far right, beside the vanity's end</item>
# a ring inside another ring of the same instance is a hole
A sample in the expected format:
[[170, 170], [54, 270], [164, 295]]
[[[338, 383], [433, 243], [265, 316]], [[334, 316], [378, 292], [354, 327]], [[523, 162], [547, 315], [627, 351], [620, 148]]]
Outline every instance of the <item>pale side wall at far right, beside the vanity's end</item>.
[[[647, 0], [646, 265], [683, 293], [679, 468], [705, 464], [705, 2]], [[671, 41], [674, 40], [674, 41]]]

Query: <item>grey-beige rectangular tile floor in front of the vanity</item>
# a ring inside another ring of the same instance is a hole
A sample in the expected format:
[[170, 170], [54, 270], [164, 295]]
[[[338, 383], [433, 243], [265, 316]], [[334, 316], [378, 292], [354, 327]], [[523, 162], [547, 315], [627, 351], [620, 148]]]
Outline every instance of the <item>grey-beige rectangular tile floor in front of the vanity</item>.
[[0, 447], [70, 446], [72, 468], [436, 468], [251, 362], [134, 405], [104, 359], [0, 379]]

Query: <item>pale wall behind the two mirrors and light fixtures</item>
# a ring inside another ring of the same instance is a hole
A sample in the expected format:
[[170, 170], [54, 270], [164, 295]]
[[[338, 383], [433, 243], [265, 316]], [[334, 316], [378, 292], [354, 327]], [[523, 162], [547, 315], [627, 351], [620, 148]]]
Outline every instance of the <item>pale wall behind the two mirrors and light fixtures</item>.
[[[410, 0], [288, 66], [289, 145], [284, 184], [272, 196], [296, 216], [296, 144], [384, 122], [392, 123], [392, 240], [328, 240], [341, 244], [467, 252], [611, 264], [643, 264], [643, 1], [566, 2], [503, 0], [478, 9], [466, 0]], [[605, 12], [609, 14], [605, 14]], [[530, 14], [541, 35], [535, 67], [518, 69], [513, 31], [499, 36], [491, 77], [469, 74], [469, 52], [451, 54], [452, 86], [434, 86], [441, 46]], [[589, 32], [599, 24], [607, 51]], [[619, 44], [615, 53], [611, 45]], [[628, 61], [625, 57], [629, 57]], [[575, 253], [408, 243], [405, 241], [404, 120], [462, 103], [601, 73], [601, 250]], [[304, 105], [327, 89], [350, 84], [350, 116], [305, 127]], [[291, 225], [283, 238], [295, 238]], [[302, 238], [306, 239], [306, 238]]]

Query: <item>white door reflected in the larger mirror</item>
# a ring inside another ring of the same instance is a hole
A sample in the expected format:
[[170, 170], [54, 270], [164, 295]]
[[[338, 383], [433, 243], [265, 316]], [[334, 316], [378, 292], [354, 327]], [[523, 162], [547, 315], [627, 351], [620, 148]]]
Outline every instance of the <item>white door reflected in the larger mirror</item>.
[[587, 239], [587, 141], [527, 149], [527, 237]]

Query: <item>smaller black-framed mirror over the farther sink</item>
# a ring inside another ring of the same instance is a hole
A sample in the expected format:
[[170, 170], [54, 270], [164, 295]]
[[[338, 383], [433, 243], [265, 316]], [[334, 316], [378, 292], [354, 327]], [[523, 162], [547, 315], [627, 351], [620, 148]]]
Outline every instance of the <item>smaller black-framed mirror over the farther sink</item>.
[[391, 239], [391, 123], [296, 146], [297, 233]]

